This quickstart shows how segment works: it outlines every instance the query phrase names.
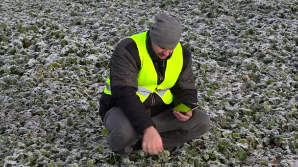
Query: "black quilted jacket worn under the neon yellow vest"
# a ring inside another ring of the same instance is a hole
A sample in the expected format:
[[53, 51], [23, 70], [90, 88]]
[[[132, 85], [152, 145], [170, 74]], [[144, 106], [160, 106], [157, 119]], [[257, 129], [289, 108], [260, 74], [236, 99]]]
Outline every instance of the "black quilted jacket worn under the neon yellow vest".
[[[150, 33], [150, 31], [148, 31]], [[162, 60], [154, 54], [151, 41], [147, 33], [146, 45], [148, 53], [153, 61], [158, 75], [158, 84], [164, 80], [167, 59]], [[191, 53], [182, 46], [183, 66], [177, 82], [171, 88], [175, 102], [196, 103], [197, 89], [192, 72]], [[173, 107], [172, 104], [164, 104], [161, 98], [152, 93], [142, 103], [136, 95], [138, 90], [137, 75], [141, 69], [141, 60], [136, 43], [131, 38], [126, 38], [119, 42], [110, 60], [110, 82], [112, 95], [102, 93], [99, 101], [99, 115], [101, 119], [105, 113], [113, 106], [120, 107], [136, 131], [143, 134], [144, 130], [153, 125], [151, 117]]]

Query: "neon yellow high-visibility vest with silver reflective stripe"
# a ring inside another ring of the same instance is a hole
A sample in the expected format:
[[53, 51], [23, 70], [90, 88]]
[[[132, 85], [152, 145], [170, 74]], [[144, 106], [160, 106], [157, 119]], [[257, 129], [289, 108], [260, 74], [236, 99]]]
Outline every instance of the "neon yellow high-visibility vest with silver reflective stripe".
[[[158, 77], [146, 47], [147, 32], [130, 36], [136, 43], [141, 60], [141, 69], [138, 72], [138, 90], [136, 94], [143, 103], [150, 95], [156, 93], [165, 104], [173, 102], [173, 94], [170, 88], [176, 83], [183, 65], [183, 54], [180, 42], [174, 48], [172, 56], [167, 60], [165, 78], [161, 84], [157, 84]], [[160, 37], [162, 38], [162, 37]], [[106, 81], [104, 93], [111, 95], [110, 79]]]

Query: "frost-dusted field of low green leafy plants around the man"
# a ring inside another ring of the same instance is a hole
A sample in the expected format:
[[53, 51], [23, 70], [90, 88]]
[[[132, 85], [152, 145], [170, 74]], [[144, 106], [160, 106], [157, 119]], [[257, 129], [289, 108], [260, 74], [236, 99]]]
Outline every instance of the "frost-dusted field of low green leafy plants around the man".
[[[98, 98], [121, 39], [167, 12], [193, 53], [201, 138], [107, 146]], [[297, 167], [297, 0], [1, 0], [0, 166]]]

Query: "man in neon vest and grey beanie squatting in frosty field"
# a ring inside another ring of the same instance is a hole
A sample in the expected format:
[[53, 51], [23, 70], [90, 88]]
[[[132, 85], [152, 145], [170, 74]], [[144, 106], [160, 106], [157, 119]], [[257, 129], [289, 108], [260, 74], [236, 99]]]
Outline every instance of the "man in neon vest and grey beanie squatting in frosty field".
[[158, 154], [209, 130], [204, 112], [173, 111], [174, 104], [197, 103], [191, 54], [179, 42], [181, 33], [179, 20], [158, 14], [149, 31], [116, 46], [99, 104], [114, 152], [127, 156], [140, 144]]

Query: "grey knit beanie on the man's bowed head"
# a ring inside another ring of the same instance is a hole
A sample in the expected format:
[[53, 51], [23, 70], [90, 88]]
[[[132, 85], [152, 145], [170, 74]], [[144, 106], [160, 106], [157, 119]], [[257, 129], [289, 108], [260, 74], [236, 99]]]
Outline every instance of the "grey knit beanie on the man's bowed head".
[[174, 49], [181, 38], [181, 21], [165, 13], [155, 16], [155, 23], [150, 29], [150, 40], [160, 47]]

